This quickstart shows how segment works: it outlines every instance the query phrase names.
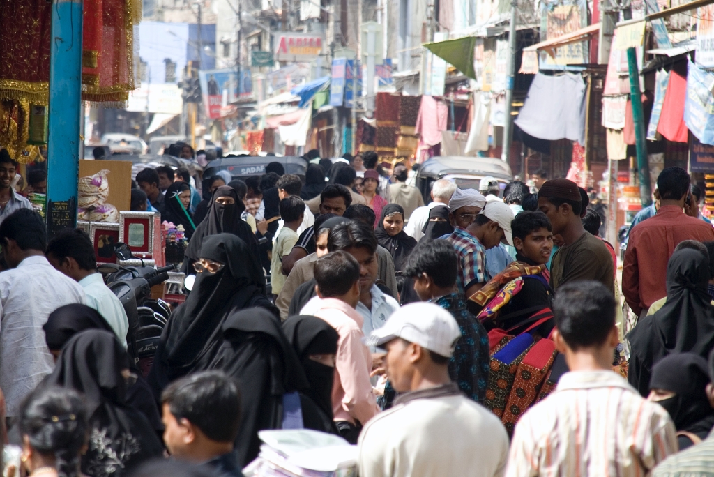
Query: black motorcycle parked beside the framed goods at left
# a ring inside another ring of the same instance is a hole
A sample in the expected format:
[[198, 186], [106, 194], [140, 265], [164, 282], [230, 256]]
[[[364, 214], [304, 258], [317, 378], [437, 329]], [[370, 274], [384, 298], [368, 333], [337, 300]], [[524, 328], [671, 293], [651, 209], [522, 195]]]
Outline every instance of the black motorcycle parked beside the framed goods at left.
[[174, 270], [174, 266], [145, 266], [144, 261], [135, 258], [125, 243], [117, 243], [114, 253], [121, 261], [134, 258], [141, 262], [141, 266], [101, 263], [97, 271], [104, 276], [104, 283], [124, 306], [126, 317], [129, 318], [129, 332], [126, 334], [129, 355], [146, 377], [154, 363], [161, 332], [171, 316], [169, 303], [151, 299], [151, 287], [169, 279], [167, 272]]

